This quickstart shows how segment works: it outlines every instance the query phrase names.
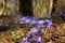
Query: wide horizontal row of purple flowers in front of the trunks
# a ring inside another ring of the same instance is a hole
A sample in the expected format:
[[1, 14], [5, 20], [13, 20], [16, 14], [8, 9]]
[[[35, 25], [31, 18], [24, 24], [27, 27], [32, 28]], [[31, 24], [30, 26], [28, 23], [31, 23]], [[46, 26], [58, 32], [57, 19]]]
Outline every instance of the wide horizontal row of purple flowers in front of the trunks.
[[47, 27], [51, 27], [52, 20], [51, 19], [38, 19], [37, 17], [23, 17], [20, 19], [20, 24], [28, 24], [28, 25], [37, 25], [38, 27], [44, 27], [48, 23]]

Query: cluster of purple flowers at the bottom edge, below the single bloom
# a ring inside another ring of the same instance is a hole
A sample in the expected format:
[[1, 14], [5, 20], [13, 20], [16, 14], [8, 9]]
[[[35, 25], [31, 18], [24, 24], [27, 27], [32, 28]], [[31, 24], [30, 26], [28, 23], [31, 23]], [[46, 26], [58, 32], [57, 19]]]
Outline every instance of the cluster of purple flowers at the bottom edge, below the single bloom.
[[23, 38], [23, 39], [22, 39], [22, 43], [30, 43], [30, 42], [28, 41], [28, 39], [32, 39], [32, 40], [36, 41], [37, 43], [43, 43], [43, 38], [37, 37], [37, 35], [35, 35], [35, 34], [29, 34], [29, 35]]

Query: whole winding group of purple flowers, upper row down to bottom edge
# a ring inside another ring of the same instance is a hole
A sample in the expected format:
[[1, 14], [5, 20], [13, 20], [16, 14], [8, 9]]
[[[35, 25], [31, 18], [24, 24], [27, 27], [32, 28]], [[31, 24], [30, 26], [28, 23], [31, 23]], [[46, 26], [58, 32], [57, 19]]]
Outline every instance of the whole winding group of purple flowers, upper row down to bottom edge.
[[42, 43], [42, 38], [35, 35], [36, 32], [39, 32], [39, 34], [42, 34], [43, 32], [40, 31], [40, 28], [48, 27], [50, 28], [52, 26], [51, 19], [38, 19], [37, 17], [23, 17], [20, 19], [20, 24], [28, 24], [30, 26], [37, 25], [36, 27], [30, 29], [30, 34], [22, 39], [22, 43], [30, 43], [28, 39], [35, 40], [37, 43]]

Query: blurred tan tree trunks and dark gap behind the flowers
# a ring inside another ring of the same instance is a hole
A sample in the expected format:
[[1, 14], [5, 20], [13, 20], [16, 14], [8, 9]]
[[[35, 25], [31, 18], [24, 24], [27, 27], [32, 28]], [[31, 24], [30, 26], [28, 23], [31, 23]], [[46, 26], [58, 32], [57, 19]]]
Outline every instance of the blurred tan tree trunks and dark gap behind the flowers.
[[61, 9], [65, 9], [64, 0], [0, 0], [0, 16], [22, 14], [43, 18], [52, 13], [64, 13]]

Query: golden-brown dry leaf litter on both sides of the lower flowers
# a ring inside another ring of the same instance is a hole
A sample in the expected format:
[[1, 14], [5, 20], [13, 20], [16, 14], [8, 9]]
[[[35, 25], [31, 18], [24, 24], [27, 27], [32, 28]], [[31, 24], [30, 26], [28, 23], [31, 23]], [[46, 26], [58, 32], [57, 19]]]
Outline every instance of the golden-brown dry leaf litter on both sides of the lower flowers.
[[[65, 43], [65, 29], [64, 29], [64, 24], [53, 26], [51, 28], [42, 28], [41, 31], [43, 34], [44, 43]], [[0, 33], [0, 42], [2, 43], [1, 39], [6, 39], [12, 41], [13, 38], [17, 35], [20, 38], [18, 42], [21, 43], [21, 38], [24, 38], [26, 34], [28, 34], [29, 30], [25, 30], [26, 28], [20, 28], [17, 27], [14, 30], [11, 30], [10, 32], [4, 31]], [[20, 33], [20, 34], [18, 34]], [[6, 42], [9, 43], [9, 42]], [[12, 42], [13, 43], [13, 42]]]

